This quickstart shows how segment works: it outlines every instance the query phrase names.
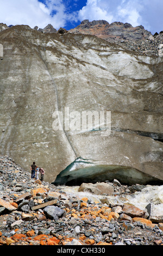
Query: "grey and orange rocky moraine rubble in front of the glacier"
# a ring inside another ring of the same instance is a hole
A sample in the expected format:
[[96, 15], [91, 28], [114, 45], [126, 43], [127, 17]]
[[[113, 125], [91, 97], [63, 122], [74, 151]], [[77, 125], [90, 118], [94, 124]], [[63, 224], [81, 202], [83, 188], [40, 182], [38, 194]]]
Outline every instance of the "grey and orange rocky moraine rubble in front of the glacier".
[[[163, 245], [163, 217], [151, 221], [148, 209], [127, 202], [127, 195], [145, 186], [118, 180], [82, 184], [78, 191], [94, 197], [101, 193], [96, 202], [31, 179], [8, 156], [1, 156], [0, 163], [0, 245]], [[121, 196], [123, 204], [112, 204], [109, 195]]]

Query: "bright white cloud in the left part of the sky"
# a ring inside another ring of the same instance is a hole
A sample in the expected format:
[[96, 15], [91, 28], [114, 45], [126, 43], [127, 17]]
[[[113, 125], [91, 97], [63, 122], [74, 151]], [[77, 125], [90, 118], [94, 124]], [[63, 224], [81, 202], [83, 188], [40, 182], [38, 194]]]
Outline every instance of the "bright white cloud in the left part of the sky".
[[[64, 27], [71, 15], [66, 14], [62, 0], [46, 0], [46, 5], [38, 0], [0, 0], [1, 22], [9, 25], [29, 25], [44, 28], [49, 23], [54, 28]], [[52, 15], [52, 12], [54, 15]]]

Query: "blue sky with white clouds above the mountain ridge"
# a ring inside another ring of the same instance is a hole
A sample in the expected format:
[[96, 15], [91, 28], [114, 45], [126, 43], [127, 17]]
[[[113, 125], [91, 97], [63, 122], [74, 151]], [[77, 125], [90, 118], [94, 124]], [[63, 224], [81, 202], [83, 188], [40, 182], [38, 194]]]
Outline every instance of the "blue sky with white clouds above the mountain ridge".
[[74, 28], [87, 19], [142, 25], [152, 34], [163, 31], [163, 0], [0, 0], [0, 23]]

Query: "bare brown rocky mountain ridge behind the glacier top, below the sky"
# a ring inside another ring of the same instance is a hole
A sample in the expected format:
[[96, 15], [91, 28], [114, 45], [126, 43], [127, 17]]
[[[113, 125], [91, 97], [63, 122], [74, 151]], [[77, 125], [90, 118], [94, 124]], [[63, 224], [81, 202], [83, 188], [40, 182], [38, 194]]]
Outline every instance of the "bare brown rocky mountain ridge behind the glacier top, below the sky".
[[[12, 25], [11, 25], [12, 26]], [[0, 32], [9, 28], [6, 24], [0, 23]], [[55, 29], [51, 24], [45, 28], [34, 27], [36, 31], [42, 33], [74, 33], [89, 34], [102, 38], [110, 43], [120, 45], [128, 50], [136, 51], [148, 56], [158, 56], [163, 54], [163, 33], [157, 32], [152, 35], [142, 25], [133, 27], [129, 23], [109, 22], [105, 20], [84, 20], [76, 28], [66, 31], [64, 28]]]

